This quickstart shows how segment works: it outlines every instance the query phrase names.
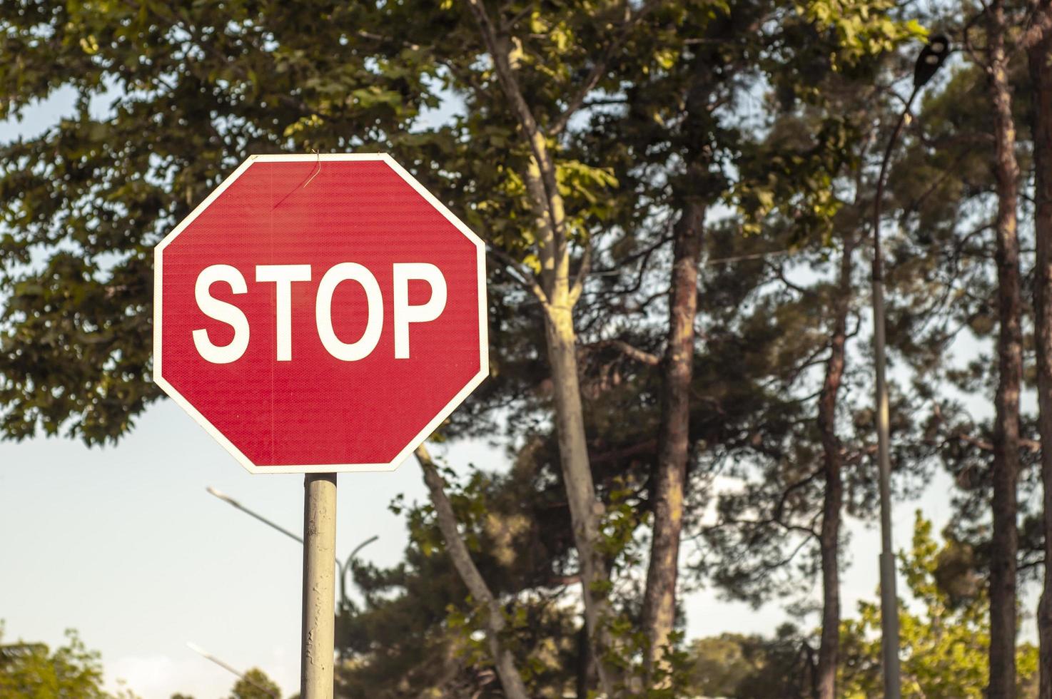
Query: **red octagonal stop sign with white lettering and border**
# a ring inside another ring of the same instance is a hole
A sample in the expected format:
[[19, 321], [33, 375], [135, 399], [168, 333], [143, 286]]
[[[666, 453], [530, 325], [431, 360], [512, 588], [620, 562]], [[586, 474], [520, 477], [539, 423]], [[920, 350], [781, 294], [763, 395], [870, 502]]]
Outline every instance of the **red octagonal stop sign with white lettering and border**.
[[482, 241], [386, 155], [252, 156], [155, 250], [154, 379], [254, 473], [397, 468], [486, 348]]

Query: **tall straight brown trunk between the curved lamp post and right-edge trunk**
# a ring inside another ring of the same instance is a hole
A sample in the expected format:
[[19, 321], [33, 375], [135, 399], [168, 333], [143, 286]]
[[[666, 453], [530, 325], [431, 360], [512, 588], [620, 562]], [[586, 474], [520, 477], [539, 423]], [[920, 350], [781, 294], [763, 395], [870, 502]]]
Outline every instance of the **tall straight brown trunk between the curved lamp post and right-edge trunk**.
[[997, 183], [997, 394], [993, 453], [993, 536], [990, 554], [991, 699], [1015, 696], [1016, 480], [1019, 468], [1019, 384], [1023, 335], [1019, 326], [1019, 242], [1016, 231], [1018, 164], [1015, 123], [1005, 53], [1005, 8], [987, 13], [990, 99], [994, 112]]

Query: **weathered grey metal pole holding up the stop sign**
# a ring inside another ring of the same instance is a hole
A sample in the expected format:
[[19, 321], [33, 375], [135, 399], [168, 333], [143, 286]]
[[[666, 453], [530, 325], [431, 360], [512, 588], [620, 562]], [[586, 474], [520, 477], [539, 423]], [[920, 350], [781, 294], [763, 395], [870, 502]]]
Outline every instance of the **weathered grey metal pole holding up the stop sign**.
[[302, 699], [332, 699], [336, 632], [336, 474], [303, 479]]

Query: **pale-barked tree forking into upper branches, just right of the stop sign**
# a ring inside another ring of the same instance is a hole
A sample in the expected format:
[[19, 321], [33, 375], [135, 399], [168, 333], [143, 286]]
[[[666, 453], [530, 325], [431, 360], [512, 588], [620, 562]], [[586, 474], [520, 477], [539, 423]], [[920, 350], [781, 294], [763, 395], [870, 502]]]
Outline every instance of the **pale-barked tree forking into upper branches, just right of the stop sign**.
[[[581, 297], [588, 272], [591, 243], [588, 232], [574, 230], [574, 221], [567, 215], [565, 196], [559, 186], [559, 148], [554, 139], [566, 128], [588, 95], [600, 87], [601, 81], [604, 78], [609, 80], [610, 55], [629, 40], [640, 20], [652, 6], [645, 3], [633, 9], [611, 3], [601, 5], [585, 17], [571, 13], [564, 17], [545, 18], [557, 25], [566, 25], [567, 29], [572, 27], [572, 34], [567, 36], [582, 38], [583, 41], [575, 42], [573, 46], [575, 52], [580, 52], [580, 57], [567, 55], [558, 44], [552, 46], [547, 37], [529, 46], [528, 52], [524, 50], [523, 41], [517, 36], [520, 30], [514, 25], [525, 17], [518, 8], [502, 7], [494, 19], [482, 0], [468, 0], [468, 6], [492, 62], [495, 82], [507, 100], [510, 116], [520, 127], [520, 139], [529, 148], [528, 160], [519, 171], [519, 177], [525, 184], [532, 212], [530, 238], [537, 241], [533, 254], [538, 269], [532, 273], [529, 270], [526, 272], [527, 279], [533, 280], [530, 288], [544, 311], [555, 433], [563, 485], [569, 500], [580, 557], [585, 621], [600, 685], [606, 694], [612, 695], [619, 680], [608, 656], [611, 650], [608, 630], [611, 620], [608, 618], [609, 603], [605, 594], [608, 571], [600, 542], [601, 505], [596, 500], [588, 460], [573, 318], [573, 306]], [[535, 61], [534, 56], [541, 60]], [[551, 71], [551, 63], [566, 66], [565, 77], [582, 73], [585, 78], [576, 85], [560, 84], [566, 82], [565, 78]], [[542, 66], [545, 71], [538, 71]], [[557, 76], [563, 80], [552, 80]], [[565, 103], [550, 98], [537, 100], [535, 96], [528, 97], [529, 94], [524, 91], [525, 81], [537, 81], [538, 78], [552, 97], [560, 92], [567, 95]], [[528, 101], [531, 97], [535, 101], [533, 104]], [[575, 234], [584, 252], [574, 271], [571, 262]]]

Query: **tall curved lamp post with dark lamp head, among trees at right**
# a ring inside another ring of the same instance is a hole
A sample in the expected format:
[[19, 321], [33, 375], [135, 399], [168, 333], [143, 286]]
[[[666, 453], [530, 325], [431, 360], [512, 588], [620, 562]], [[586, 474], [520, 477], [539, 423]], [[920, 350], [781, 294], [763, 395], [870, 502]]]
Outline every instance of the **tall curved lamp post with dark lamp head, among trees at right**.
[[932, 36], [917, 57], [913, 90], [895, 124], [881, 161], [873, 198], [873, 364], [876, 373], [876, 443], [881, 490], [881, 655], [884, 667], [885, 699], [899, 699], [902, 680], [898, 669], [898, 596], [895, 593], [895, 554], [891, 543], [891, 454], [888, 409], [888, 384], [885, 356], [884, 260], [881, 252], [881, 204], [884, 180], [898, 135], [920, 88], [931, 80], [949, 54], [950, 43], [943, 35]]

